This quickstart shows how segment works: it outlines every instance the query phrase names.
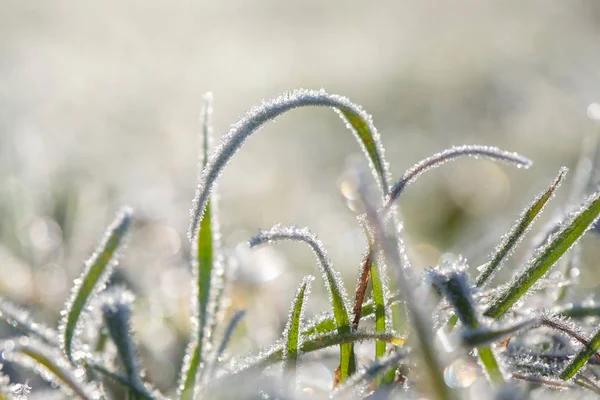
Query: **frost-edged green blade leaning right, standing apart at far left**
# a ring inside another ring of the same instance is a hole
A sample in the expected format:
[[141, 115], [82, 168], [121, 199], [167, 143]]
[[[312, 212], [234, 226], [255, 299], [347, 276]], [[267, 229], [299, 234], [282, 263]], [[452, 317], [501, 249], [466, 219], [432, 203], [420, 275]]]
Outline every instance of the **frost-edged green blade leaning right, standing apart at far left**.
[[123, 244], [131, 220], [131, 209], [121, 209], [106, 231], [102, 243], [86, 262], [83, 274], [75, 281], [59, 325], [60, 346], [71, 362], [74, 362], [73, 340], [80, 331], [81, 317], [84, 315], [89, 301], [104, 289], [113, 266], [116, 264], [118, 250]]

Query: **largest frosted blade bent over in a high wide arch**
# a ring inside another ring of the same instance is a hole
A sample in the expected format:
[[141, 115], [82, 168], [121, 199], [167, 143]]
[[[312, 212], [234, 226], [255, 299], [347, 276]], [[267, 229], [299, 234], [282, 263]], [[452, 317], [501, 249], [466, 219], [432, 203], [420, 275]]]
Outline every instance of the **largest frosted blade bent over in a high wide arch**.
[[388, 167], [384, 159], [379, 133], [373, 125], [371, 116], [345, 97], [331, 95], [324, 90], [299, 89], [284, 93], [259, 107], [252, 108], [244, 118], [232, 127], [224, 136], [221, 145], [213, 151], [208, 164], [202, 171], [194, 198], [189, 230], [190, 238], [195, 237], [198, 232], [199, 223], [208, 204], [210, 193], [219, 175], [246, 139], [279, 115], [306, 106], [332, 107], [340, 112], [342, 119], [355, 134], [359, 144], [365, 151], [383, 195], [387, 195], [389, 191]]

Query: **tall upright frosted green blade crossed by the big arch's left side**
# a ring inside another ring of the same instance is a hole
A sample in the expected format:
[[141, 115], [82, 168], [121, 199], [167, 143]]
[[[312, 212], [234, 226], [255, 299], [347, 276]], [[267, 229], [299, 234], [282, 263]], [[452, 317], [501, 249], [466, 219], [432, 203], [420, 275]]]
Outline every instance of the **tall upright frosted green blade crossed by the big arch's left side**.
[[[202, 152], [199, 162], [199, 177], [208, 163], [208, 151], [211, 145], [212, 95], [204, 96], [201, 114]], [[216, 195], [212, 195], [206, 206], [206, 212], [200, 221], [198, 234], [192, 241], [192, 315], [194, 319], [192, 337], [184, 357], [178, 394], [180, 399], [191, 400], [194, 387], [204, 365], [205, 348], [211, 344], [212, 336], [207, 337], [207, 328], [216, 326], [218, 294], [221, 292], [223, 261], [220, 254], [220, 233], [217, 216]]]

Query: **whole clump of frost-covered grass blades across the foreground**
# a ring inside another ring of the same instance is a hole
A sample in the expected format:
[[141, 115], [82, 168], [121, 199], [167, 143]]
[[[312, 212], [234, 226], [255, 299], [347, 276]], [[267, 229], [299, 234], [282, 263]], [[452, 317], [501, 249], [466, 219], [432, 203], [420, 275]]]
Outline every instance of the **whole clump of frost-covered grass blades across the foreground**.
[[[365, 174], [354, 171], [357, 197], [364, 210], [364, 215], [357, 215], [357, 223], [364, 228], [366, 237], [364, 258], [357, 262], [354, 302], [350, 303], [344, 282], [324, 246], [307, 228], [275, 225], [260, 231], [250, 240], [250, 247], [290, 240], [311, 248], [329, 292], [331, 308], [317, 317], [307, 315], [314, 278], [305, 277], [291, 301], [281, 340], [259, 354], [234, 356], [235, 362], [226, 364], [224, 355], [245, 311], [235, 312], [227, 322], [222, 318], [227, 273], [220, 246], [217, 180], [228, 161], [261, 126], [305, 106], [330, 107], [339, 113], [363, 149], [379, 191], [373, 195]], [[192, 333], [174, 397], [191, 400], [306, 396], [308, 392], [297, 390], [299, 367], [308, 357], [319, 359], [336, 349], [339, 364], [337, 369], [332, 367], [337, 376], [330, 393], [336, 398], [525, 399], [565, 390], [577, 391], [577, 397], [600, 393], [600, 331], [596, 327], [600, 306], [562, 302], [566, 296], [562, 289], [574, 284], [568, 279], [580, 254], [568, 252], [573, 247], [579, 249], [579, 239], [597, 226], [600, 216], [599, 188], [591, 194], [581, 189], [588, 187], [586, 182], [591, 180], [581, 172], [585, 170], [578, 169], [575, 194], [561, 207], [570, 213], [543, 233], [543, 240], [529, 261], [510, 282], [493, 287], [491, 278], [502, 266], [510, 265], [511, 254], [565, 181], [564, 167], [525, 207], [498, 246], [490, 249], [489, 261], [479, 268], [478, 276], [472, 277], [467, 260], [459, 257], [454, 263], [443, 262], [424, 277], [416, 278], [404, 250], [395, 210], [395, 203], [407, 187], [422, 173], [462, 157], [502, 161], [518, 168], [528, 168], [529, 159], [495, 147], [458, 146], [417, 163], [393, 184], [372, 118], [342, 96], [322, 90], [297, 90], [278, 96], [253, 108], [213, 150], [211, 113], [212, 96], [207, 95], [202, 113], [199, 178], [189, 226], [194, 276], [190, 300]], [[581, 205], [575, 206], [574, 202]], [[0, 299], [0, 317], [20, 334], [2, 342], [4, 363], [31, 369], [52, 387], [81, 399], [111, 398], [115, 385], [128, 399], [167, 397], [146, 381], [138, 361], [131, 329], [133, 294], [122, 287], [107, 288], [133, 219], [132, 211], [124, 208], [108, 228], [73, 285], [58, 329], [35, 321], [26, 310]], [[565, 254], [569, 262], [563, 278], [544, 279]], [[553, 296], [548, 287], [557, 282], [563, 285], [559, 296]], [[532, 298], [536, 301], [526, 301]], [[407, 328], [402, 331], [398, 331], [401, 325], [397, 314], [390, 312], [396, 306], [406, 311]], [[101, 318], [89, 318], [93, 307], [100, 311], [96, 314]], [[370, 318], [375, 319], [374, 329], [367, 325]], [[98, 331], [94, 340], [81, 334], [87, 326]], [[223, 332], [220, 338], [217, 332]], [[442, 346], [436, 337], [444, 338], [446, 345]], [[112, 350], [108, 341], [114, 345]], [[356, 345], [365, 341], [375, 343], [375, 353], [373, 360], [361, 363]], [[118, 362], [105, 363], [111, 359], [107, 357], [111, 351], [112, 359], [118, 357]], [[480, 368], [461, 372], [449, 380], [448, 376], [455, 373], [454, 363], [461, 359]], [[276, 368], [278, 364], [283, 368]], [[467, 375], [469, 379], [465, 378]], [[477, 380], [477, 390], [464, 389]], [[0, 399], [22, 398], [23, 391], [19, 390], [5, 375], [0, 375]]]

